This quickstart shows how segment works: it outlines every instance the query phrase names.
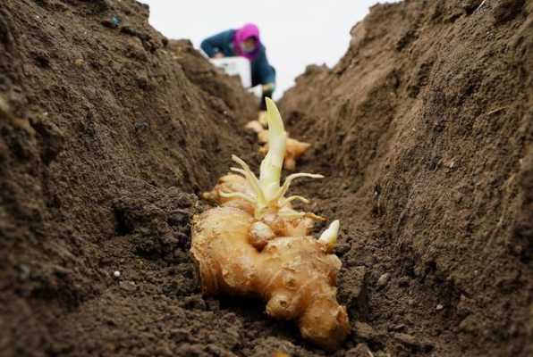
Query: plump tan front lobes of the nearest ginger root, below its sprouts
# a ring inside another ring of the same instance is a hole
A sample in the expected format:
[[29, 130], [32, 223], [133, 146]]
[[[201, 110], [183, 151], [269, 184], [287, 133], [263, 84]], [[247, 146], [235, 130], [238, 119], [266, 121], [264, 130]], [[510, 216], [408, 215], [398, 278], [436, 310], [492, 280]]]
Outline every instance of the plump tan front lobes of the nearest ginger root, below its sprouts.
[[341, 261], [314, 237], [275, 237], [259, 252], [250, 245], [254, 219], [218, 207], [193, 222], [192, 255], [206, 295], [257, 296], [267, 314], [298, 320], [304, 338], [334, 350], [350, 331], [346, 309], [336, 301]]

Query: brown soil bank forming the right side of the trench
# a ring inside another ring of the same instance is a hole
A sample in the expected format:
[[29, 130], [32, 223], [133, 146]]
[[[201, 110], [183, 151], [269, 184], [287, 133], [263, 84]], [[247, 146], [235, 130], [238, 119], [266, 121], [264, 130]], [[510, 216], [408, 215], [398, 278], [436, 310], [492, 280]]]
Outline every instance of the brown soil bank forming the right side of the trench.
[[378, 351], [532, 353], [533, 4], [481, 3], [376, 5], [283, 97]]

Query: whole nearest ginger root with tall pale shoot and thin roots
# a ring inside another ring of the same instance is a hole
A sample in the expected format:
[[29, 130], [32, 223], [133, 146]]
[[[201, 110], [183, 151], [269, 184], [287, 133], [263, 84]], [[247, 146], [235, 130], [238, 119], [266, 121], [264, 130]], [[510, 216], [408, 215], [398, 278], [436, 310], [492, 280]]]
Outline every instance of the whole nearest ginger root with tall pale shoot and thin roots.
[[268, 144], [259, 179], [246, 162], [219, 180], [205, 194], [221, 206], [193, 219], [191, 253], [199, 266], [205, 295], [256, 296], [267, 302], [267, 314], [297, 320], [301, 335], [334, 350], [350, 332], [346, 309], [336, 301], [336, 277], [341, 261], [332, 253], [339, 221], [316, 239], [309, 236], [309, 212], [297, 212], [285, 197], [293, 179], [321, 178], [292, 174], [280, 186], [286, 133], [275, 104], [267, 100]]

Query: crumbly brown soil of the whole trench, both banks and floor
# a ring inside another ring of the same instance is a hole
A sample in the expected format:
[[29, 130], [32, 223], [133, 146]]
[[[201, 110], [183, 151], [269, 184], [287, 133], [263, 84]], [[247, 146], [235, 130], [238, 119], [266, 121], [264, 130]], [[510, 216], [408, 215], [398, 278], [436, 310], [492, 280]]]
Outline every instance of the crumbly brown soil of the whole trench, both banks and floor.
[[[380, 4], [283, 96], [342, 221], [335, 355], [533, 353], [533, 3]], [[199, 294], [190, 217], [257, 104], [133, 0], [0, 4], [0, 355], [329, 355]], [[319, 230], [321, 227], [318, 227]]]

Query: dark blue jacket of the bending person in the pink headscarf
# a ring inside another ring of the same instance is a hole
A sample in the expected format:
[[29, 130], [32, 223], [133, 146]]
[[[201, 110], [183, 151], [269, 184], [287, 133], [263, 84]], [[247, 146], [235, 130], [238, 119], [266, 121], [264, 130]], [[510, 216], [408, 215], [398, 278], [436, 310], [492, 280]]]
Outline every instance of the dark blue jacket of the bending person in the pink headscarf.
[[[213, 57], [218, 52], [222, 52], [226, 57], [234, 56], [234, 35], [235, 30], [228, 29], [215, 36], [207, 37], [202, 41], [200, 47], [209, 57]], [[258, 56], [251, 61], [251, 85], [257, 86], [268, 83], [275, 84], [275, 69], [267, 60], [267, 49], [261, 44]]]

